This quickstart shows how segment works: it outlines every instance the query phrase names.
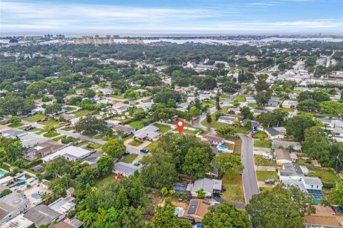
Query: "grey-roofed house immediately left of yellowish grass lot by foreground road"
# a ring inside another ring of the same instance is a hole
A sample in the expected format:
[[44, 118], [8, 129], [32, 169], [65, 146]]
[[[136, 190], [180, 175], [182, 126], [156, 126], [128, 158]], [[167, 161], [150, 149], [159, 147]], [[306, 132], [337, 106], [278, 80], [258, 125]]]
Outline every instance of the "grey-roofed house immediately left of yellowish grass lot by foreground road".
[[189, 184], [187, 190], [191, 192], [193, 197], [197, 197], [197, 191], [203, 189], [206, 197], [212, 197], [214, 195], [220, 195], [222, 191], [222, 180], [202, 178], [196, 180], [194, 184]]

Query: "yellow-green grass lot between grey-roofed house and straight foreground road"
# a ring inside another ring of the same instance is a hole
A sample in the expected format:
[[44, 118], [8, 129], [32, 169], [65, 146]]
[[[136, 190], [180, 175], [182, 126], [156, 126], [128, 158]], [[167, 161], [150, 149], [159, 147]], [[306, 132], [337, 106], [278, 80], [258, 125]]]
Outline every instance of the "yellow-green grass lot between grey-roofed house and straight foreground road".
[[222, 198], [228, 202], [245, 204], [242, 176], [239, 174], [227, 173], [222, 178], [225, 192]]

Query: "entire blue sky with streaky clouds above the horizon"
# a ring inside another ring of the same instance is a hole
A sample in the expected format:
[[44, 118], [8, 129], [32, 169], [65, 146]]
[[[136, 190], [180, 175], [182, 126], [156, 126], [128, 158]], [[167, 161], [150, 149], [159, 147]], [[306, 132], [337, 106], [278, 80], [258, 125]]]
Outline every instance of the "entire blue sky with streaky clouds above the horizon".
[[343, 0], [0, 0], [0, 33], [343, 33]]

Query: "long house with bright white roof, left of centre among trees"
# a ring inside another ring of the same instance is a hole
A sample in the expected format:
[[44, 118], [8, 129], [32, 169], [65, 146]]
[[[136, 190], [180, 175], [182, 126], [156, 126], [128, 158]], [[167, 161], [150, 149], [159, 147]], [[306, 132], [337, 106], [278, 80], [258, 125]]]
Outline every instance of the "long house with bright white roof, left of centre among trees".
[[90, 155], [90, 153], [91, 152], [89, 150], [84, 150], [81, 147], [71, 145], [69, 147], [64, 147], [62, 150], [58, 150], [51, 155], [43, 157], [41, 160], [45, 163], [54, 160], [56, 157], [62, 156], [65, 157], [66, 160], [76, 161]]

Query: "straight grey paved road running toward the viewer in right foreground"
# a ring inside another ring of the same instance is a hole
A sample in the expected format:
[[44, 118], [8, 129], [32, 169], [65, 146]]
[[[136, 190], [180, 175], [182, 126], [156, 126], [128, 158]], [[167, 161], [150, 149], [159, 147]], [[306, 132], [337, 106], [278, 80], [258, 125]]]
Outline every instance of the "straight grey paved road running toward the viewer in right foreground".
[[245, 202], [249, 204], [250, 199], [255, 194], [259, 194], [259, 185], [257, 185], [255, 167], [253, 140], [251, 137], [243, 134], [237, 134], [242, 139], [242, 164], [244, 170], [242, 174]]

